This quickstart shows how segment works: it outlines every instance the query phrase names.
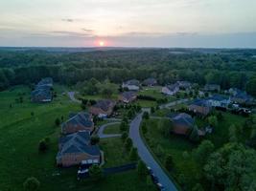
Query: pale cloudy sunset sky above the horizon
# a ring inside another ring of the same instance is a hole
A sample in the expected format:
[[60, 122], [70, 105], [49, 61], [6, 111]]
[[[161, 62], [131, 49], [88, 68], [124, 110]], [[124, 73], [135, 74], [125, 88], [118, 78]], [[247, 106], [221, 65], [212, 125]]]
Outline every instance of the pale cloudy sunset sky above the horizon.
[[256, 48], [256, 0], [0, 0], [0, 46]]

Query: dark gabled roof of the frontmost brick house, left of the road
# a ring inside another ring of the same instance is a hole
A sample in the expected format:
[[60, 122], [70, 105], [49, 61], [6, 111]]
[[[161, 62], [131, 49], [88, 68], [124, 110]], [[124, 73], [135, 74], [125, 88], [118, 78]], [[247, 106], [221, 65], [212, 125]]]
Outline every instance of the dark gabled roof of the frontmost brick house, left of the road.
[[90, 145], [90, 134], [87, 131], [80, 131], [62, 138], [59, 138], [61, 148], [58, 157], [71, 153], [86, 153], [92, 156], [100, 155], [100, 148], [97, 145]]

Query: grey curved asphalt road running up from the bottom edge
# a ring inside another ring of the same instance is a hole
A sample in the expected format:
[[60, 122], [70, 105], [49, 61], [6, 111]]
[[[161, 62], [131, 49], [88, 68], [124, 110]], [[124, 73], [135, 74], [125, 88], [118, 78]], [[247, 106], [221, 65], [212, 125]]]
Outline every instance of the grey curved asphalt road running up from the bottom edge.
[[151, 167], [153, 173], [159, 179], [159, 182], [169, 191], [176, 191], [175, 183], [169, 179], [166, 173], [162, 170], [160, 165], [153, 159], [151, 156], [151, 152], [148, 150], [147, 146], [144, 144], [142, 138], [140, 137], [140, 123], [142, 120], [142, 113], [137, 115], [131, 123], [129, 127], [129, 137], [133, 141], [133, 145], [137, 147], [138, 154], [140, 158]]

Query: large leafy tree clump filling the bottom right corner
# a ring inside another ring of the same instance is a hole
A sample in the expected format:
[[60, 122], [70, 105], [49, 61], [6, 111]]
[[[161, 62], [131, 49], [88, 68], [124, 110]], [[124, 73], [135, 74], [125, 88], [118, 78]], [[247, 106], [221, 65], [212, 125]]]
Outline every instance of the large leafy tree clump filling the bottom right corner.
[[203, 170], [207, 180], [226, 190], [256, 189], [256, 151], [238, 143], [227, 143], [210, 155]]

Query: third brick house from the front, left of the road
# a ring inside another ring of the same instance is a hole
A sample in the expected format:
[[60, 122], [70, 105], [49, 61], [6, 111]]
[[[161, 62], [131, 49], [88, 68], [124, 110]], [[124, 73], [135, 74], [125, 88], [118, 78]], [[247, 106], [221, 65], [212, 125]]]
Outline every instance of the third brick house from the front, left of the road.
[[96, 104], [90, 107], [90, 113], [98, 117], [109, 117], [113, 112], [115, 104], [115, 101], [109, 99], [98, 100]]

